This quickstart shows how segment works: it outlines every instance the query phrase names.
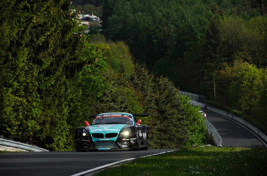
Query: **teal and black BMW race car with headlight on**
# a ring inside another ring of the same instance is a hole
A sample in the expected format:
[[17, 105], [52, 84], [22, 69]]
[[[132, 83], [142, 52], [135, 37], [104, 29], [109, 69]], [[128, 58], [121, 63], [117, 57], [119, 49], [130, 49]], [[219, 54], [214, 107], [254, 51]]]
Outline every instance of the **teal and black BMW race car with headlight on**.
[[75, 132], [77, 151], [129, 149], [147, 150], [149, 148], [149, 130], [141, 125], [135, 116], [149, 117], [149, 114], [102, 113], [90, 115], [91, 124], [78, 127]]

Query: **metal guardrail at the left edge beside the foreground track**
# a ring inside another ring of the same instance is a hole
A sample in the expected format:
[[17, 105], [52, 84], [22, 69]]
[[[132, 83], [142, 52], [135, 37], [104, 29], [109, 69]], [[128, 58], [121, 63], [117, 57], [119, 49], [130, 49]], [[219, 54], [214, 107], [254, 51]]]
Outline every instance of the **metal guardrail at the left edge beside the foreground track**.
[[14, 148], [19, 148], [27, 151], [49, 151], [44, 148], [40, 148], [37, 146], [21, 143], [21, 142], [16, 142], [12, 140], [7, 140], [3, 139], [3, 135], [1, 135], [0, 138], [0, 145], [8, 146], [8, 147], [14, 147]]

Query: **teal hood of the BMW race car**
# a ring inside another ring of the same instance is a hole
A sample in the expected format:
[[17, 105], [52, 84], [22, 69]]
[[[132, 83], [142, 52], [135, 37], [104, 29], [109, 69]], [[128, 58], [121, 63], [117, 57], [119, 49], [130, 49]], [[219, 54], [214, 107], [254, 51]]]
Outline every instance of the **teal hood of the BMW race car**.
[[126, 124], [100, 124], [90, 125], [90, 133], [119, 133]]

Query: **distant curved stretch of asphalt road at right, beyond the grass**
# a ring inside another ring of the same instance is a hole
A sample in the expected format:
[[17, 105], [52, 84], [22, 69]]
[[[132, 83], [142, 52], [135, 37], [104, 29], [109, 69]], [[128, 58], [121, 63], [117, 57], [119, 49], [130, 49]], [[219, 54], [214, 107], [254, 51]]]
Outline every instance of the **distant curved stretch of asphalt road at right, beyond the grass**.
[[266, 147], [263, 142], [256, 137], [249, 129], [230, 120], [229, 118], [204, 110], [207, 114], [207, 120], [220, 133], [223, 143], [227, 147]]

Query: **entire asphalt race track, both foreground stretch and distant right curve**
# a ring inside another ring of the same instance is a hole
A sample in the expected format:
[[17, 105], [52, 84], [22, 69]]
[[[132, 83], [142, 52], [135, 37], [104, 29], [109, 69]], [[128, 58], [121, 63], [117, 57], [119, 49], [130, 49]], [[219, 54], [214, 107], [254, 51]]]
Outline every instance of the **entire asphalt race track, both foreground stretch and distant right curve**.
[[[220, 133], [223, 146], [266, 147], [245, 127], [223, 116], [205, 112], [207, 119]], [[0, 153], [0, 175], [73, 175], [112, 162], [171, 150]]]

